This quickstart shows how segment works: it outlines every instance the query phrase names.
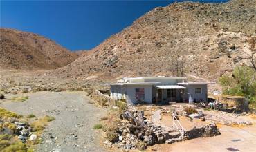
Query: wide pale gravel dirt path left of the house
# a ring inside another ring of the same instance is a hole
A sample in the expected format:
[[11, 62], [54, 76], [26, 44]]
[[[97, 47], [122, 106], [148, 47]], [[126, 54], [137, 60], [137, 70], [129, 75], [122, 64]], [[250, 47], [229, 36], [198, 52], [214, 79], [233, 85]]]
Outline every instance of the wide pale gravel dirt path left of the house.
[[28, 96], [25, 102], [6, 101], [1, 106], [22, 115], [55, 117], [42, 135], [44, 142], [37, 151], [105, 151], [100, 146], [101, 134], [93, 125], [106, 111], [89, 104], [89, 97], [82, 92], [39, 92]]

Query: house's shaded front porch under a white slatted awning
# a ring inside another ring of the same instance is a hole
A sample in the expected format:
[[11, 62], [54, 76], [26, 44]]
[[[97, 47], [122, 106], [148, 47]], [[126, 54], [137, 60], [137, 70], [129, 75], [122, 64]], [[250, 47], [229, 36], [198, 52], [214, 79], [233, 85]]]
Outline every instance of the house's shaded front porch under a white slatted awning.
[[169, 102], [184, 102], [185, 87], [178, 85], [153, 86], [153, 104], [169, 104]]

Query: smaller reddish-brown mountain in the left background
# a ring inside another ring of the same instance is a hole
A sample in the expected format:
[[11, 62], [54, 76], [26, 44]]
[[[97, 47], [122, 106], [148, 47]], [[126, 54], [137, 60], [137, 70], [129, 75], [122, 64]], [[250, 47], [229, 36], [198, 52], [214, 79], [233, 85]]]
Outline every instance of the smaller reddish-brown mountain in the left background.
[[55, 69], [78, 57], [51, 39], [30, 32], [0, 28], [0, 34], [0, 68], [3, 69]]

